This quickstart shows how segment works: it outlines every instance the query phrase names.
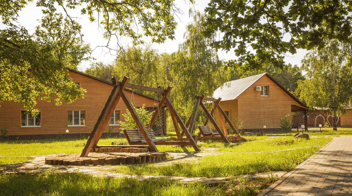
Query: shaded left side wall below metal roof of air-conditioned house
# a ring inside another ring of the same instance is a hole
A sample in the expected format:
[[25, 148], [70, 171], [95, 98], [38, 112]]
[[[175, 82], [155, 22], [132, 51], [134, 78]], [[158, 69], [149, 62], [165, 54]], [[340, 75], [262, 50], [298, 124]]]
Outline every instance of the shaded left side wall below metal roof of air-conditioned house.
[[[233, 122], [233, 120], [238, 117], [237, 100], [228, 100], [228, 101], [220, 102], [220, 106], [221, 106], [222, 110], [224, 110], [225, 112], [226, 111], [231, 112], [230, 113], [231, 122]], [[219, 115], [218, 109], [215, 110], [215, 121], [216, 121], [216, 124], [218, 124], [222, 130], [222, 125], [221, 125], [221, 120], [220, 120], [220, 115]], [[228, 123], [226, 123], [225, 126], [226, 126], [226, 129], [231, 129], [231, 127], [230, 127], [230, 125], [228, 125]], [[215, 129], [213, 125], [210, 125], [210, 127], [212, 129]]]

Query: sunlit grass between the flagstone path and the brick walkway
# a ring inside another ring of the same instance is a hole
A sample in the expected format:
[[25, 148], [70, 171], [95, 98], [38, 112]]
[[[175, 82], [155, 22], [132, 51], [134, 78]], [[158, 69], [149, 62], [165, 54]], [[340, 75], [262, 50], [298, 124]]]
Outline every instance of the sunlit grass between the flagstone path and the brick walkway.
[[[209, 155], [200, 158], [199, 161], [172, 163], [168, 165], [121, 165], [111, 171], [156, 176], [231, 177], [264, 171], [292, 170], [332, 139], [325, 137], [311, 138], [309, 141], [302, 139], [287, 145], [270, 143], [291, 140], [289, 137], [281, 137], [264, 141], [239, 143], [219, 149], [219, 151], [227, 151], [227, 153]], [[291, 150], [274, 153], [262, 152], [272, 149]]]

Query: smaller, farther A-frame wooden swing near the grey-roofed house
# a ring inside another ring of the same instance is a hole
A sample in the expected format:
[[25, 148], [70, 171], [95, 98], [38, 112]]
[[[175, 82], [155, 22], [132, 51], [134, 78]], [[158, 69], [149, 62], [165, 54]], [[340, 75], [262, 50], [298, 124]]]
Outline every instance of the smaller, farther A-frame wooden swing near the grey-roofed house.
[[[221, 106], [220, 106], [220, 101], [221, 98], [215, 99], [215, 98], [210, 98], [210, 97], [206, 97], [205, 94], [202, 94], [202, 96], [195, 96], [196, 98], [196, 103], [192, 112], [192, 115], [189, 117], [186, 126], [188, 127], [188, 131], [189, 133], [193, 133], [193, 127], [195, 124], [195, 118], [197, 116], [197, 111], [199, 109], [199, 107], [202, 107], [202, 109], [204, 110], [205, 114], [207, 115], [207, 120], [205, 121], [205, 123], [203, 124], [203, 126], [199, 126], [199, 134], [198, 134], [198, 138], [202, 138], [203, 137], [212, 137], [215, 135], [218, 135], [221, 137], [221, 139], [225, 142], [225, 143], [230, 143], [227, 138], [227, 131], [226, 131], [226, 126], [225, 126], [225, 122], [227, 122], [231, 129], [234, 131], [234, 133], [238, 134], [238, 131], [236, 130], [236, 128], [234, 127], [234, 125], [232, 124], [232, 122], [230, 121], [230, 119], [228, 119], [228, 117], [226, 116], [226, 113], [224, 112], [224, 110], [222, 110]], [[208, 102], [213, 102], [214, 103], [214, 107], [213, 109], [209, 112], [207, 107], [204, 105], [203, 101], [208, 101]], [[219, 116], [220, 116], [220, 121], [221, 121], [221, 125], [222, 128], [224, 129], [224, 132], [221, 131], [219, 125], [216, 123], [216, 121], [213, 118], [213, 115], [215, 113], [215, 109], [218, 109], [219, 111]], [[225, 118], [225, 121], [224, 121]], [[216, 129], [216, 131], [218, 131], [218, 133], [212, 133], [210, 127], [208, 126], [209, 121], [214, 125], [214, 128]], [[181, 135], [183, 135], [185, 132], [182, 131]]]

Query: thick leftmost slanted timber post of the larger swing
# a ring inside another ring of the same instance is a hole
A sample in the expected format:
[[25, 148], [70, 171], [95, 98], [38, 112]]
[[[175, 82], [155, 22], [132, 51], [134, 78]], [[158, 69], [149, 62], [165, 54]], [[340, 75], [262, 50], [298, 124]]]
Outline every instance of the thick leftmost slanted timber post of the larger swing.
[[[114, 82], [116, 80], [116, 78], [113, 78], [112, 80]], [[105, 129], [107, 123], [109, 122], [109, 119], [110, 119], [112, 113], [114, 112], [115, 107], [121, 97], [119, 94], [119, 90], [120, 90], [120, 88], [124, 89], [126, 87], [127, 83], [128, 83], [128, 78], [127, 79], [124, 78], [124, 80], [122, 80], [121, 86], [114, 86], [108, 100], [105, 103], [105, 107], [101, 111], [101, 114], [98, 118], [98, 121], [95, 123], [93, 131], [87, 140], [86, 146], [84, 146], [84, 148], [82, 150], [81, 157], [87, 157], [90, 152], [90, 149], [98, 143], [98, 141], [99, 141], [102, 133], [104, 132], [104, 129]]]

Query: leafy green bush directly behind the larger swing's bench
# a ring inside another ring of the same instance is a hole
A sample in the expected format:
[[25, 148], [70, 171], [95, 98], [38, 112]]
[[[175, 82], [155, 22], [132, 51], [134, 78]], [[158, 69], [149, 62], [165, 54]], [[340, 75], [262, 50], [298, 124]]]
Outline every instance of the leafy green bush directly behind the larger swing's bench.
[[[134, 108], [134, 106], [133, 106]], [[145, 110], [144, 105], [141, 108], [134, 108], [137, 112], [137, 115], [139, 116], [139, 119], [142, 121], [144, 126], [146, 127], [150, 119], [153, 116], [154, 112], [148, 112]], [[126, 109], [126, 114], [122, 114], [122, 116], [125, 118], [125, 122], [120, 122], [121, 128], [123, 129], [138, 129], [136, 122], [132, 118], [132, 115], [128, 109]]]

